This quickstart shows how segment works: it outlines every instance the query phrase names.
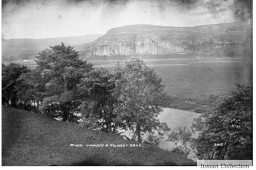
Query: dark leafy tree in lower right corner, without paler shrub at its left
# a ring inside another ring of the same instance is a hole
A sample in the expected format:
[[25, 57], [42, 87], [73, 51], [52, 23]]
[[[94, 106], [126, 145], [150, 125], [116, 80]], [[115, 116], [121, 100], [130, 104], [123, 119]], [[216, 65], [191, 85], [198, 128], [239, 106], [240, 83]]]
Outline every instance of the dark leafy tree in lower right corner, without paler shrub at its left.
[[213, 148], [214, 159], [252, 159], [252, 88], [236, 85], [237, 91], [222, 97], [192, 126], [200, 132], [198, 139], [207, 141], [201, 146]]

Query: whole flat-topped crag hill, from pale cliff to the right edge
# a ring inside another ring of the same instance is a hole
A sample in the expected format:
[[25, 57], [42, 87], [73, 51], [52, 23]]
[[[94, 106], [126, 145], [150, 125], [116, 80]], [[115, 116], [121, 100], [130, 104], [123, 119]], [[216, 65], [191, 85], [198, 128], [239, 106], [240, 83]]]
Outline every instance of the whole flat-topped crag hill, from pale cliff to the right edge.
[[178, 54], [200, 52], [205, 44], [218, 48], [229, 42], [245, 40], [249, 24], [225, 23], [196, 27], [160, 27], [131, 25], [110, 29], [90, 50], [97, 56], [133, 54]]

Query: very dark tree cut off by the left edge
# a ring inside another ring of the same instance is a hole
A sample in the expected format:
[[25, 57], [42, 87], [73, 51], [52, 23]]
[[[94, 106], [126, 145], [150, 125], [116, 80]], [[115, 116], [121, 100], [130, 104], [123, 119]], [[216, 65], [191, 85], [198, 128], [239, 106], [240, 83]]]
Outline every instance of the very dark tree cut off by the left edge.
[[2, 103], [16, 106], [18, 102], [17, 90], [15, 86], [19, 84], [17, 79], [22, 73], [30, 72], [26, 66], [18, 63], [10, 63], [5, 66], [2, 64]]

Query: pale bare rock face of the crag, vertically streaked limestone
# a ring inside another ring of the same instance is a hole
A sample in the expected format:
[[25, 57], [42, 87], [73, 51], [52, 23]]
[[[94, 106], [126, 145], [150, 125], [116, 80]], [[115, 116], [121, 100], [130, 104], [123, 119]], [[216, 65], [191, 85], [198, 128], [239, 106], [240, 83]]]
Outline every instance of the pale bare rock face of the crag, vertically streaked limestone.
[[103, 36], [94, 54], [114, 56], [130, 54], [168, 54], [184, 52], [184, 46], [169, 32], [125, 33]]

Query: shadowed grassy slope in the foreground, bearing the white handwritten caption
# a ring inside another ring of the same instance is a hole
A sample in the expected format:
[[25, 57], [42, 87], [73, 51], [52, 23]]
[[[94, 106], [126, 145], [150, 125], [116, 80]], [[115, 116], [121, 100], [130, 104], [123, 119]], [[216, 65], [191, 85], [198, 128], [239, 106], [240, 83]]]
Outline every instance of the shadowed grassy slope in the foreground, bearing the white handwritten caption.
[[[70, 147], [83, 144], [84, 147]], [[196, 165], [158, 147], [86, 147], [139, 144], [73, 122], [2, 105], [2, 165]]]

